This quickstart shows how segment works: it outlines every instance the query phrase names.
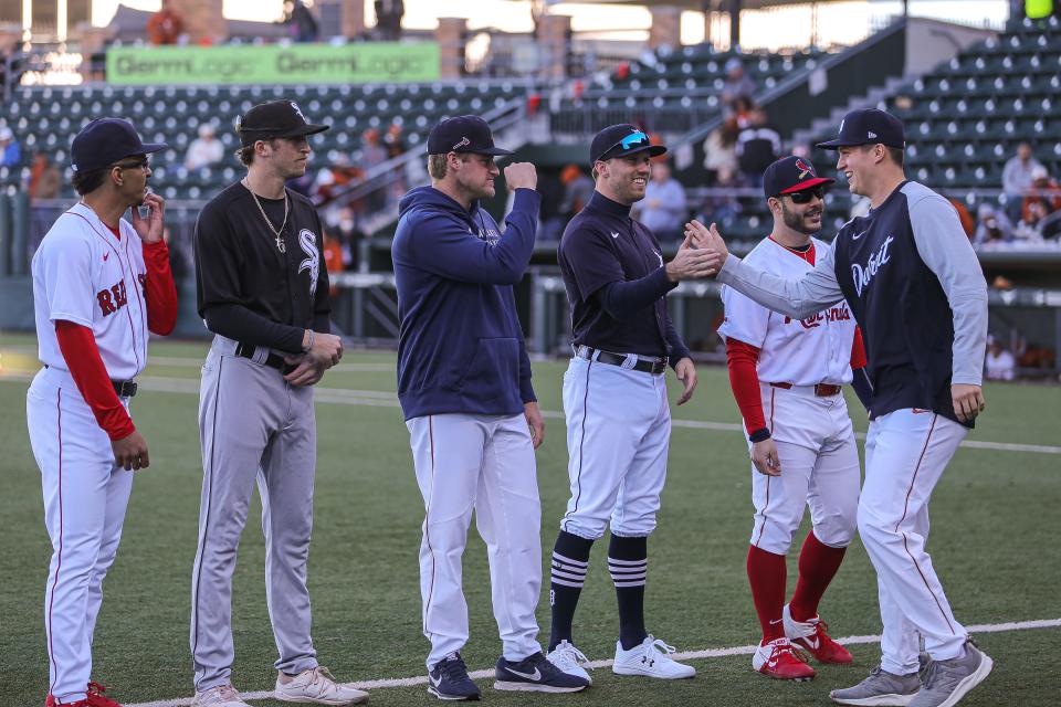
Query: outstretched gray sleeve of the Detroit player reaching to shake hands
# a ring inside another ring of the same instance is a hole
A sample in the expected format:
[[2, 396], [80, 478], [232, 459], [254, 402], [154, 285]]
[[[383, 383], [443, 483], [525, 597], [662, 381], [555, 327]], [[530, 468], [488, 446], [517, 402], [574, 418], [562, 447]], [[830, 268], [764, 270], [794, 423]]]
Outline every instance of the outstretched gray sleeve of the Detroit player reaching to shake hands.
[[718, 282], [767, 309], [794, 319], [806, 319], [843, 299], [831, 247], [819, 251], [815, 270], [794, 279], [764, 273], [736, 255], [729, 255], [718, 271]]

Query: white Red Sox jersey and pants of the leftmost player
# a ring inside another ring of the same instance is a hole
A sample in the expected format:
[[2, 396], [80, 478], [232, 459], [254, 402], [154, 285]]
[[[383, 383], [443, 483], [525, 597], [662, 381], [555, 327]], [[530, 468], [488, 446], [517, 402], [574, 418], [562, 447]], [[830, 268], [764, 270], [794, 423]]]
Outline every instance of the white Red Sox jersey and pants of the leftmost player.
[[[90, 328], [113, 380], [147, 360], [143, 242], [120, 221], [118, 239], [84, 204], [61, 215], [33, 256], [33, 300], [45, 368], [27, 394], [27, 422], [41, 469], [52, 559], [44, 594], [49, 693], [85, 697], [103, 579], [122, 537], [133, 472], [115, 465], [111, 439], [82, 398], [59, 348], [55, 321]], [[128, 399], [122, 399], [128, 408]]]

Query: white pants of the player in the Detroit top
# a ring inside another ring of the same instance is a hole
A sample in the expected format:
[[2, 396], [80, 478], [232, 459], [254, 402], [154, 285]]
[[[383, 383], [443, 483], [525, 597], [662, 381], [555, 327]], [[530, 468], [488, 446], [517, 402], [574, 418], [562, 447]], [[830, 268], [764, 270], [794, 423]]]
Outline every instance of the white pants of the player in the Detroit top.
[[967, 632], [925, 551], [932, 490], [968, 430], [932, 411], [896, 410], [870, 423], [859, 536], [876, 570], [884, 625], [881, 666], [918, 669], [918, 634], [936, 661], [959, 657]]

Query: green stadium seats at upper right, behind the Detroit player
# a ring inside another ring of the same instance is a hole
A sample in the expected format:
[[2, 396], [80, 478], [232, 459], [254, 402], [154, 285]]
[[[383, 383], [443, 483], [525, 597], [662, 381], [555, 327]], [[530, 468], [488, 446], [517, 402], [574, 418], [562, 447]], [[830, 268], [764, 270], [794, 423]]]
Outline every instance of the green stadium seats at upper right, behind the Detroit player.
[[[984, 199], [974, 190], [1001, 187], [1002, 167], [1022, 140], [1061, 177], [1061, 22], [1013, 22], [998, 39], [901, 85], [882, 107], [906, 126], [907, 176], [962, 199], [970, 210]], [[832, 137], [829, 128], [813, 141]], [[834, 176], [834, 152], [815, 150], [812, 159], [819, 173]], [[737, 241], [761, 238], [770, 224], [764, 199], [735, 202], [737, 215], [721, 228]], [[847, 189], [836, 186], [827, 197], [824, 238], [847, 221], [851, 205]]]

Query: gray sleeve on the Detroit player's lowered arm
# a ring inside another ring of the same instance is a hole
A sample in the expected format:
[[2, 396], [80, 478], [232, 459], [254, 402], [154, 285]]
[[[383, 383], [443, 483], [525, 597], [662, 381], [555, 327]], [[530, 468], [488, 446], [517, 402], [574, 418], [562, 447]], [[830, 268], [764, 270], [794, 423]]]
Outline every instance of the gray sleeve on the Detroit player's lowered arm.
[[954, 317], [952, 383], [983, 382], [987, 347], [987, 282], [950, 203], [916, 182], [903, 187], [917, 254], [943, 286]]

